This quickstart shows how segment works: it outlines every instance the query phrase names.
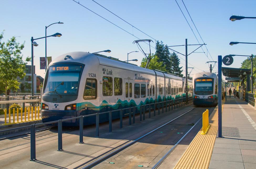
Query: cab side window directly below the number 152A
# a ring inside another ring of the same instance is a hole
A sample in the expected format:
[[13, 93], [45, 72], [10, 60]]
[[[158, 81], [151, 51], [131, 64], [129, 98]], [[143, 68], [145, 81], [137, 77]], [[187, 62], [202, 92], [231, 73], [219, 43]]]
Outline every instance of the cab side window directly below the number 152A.
[[85, 91], [83, 92], [83, 99], [96, 99], [97, 97], [97, 80], [96, 79], [86, 79]]

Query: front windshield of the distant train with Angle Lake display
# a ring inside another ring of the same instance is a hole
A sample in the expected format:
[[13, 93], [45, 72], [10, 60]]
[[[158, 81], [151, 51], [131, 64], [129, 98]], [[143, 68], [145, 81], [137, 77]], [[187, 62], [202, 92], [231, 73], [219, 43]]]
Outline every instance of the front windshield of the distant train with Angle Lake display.
[[212, 78], [195, 79], [195, 94], [209, 95], [212, 93], [213, 93], [213, 79]]

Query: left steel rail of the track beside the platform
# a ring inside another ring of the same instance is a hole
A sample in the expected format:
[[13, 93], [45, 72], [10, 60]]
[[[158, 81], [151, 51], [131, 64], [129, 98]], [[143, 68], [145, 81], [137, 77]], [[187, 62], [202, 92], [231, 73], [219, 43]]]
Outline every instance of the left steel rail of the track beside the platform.
[[[195, 107], [195, 108], [196, 108], [196, 107]], [[194, 110], [195, 108], [193, 108], [193, 109], [191, 109], [191, 110]], [[190, 112], [191, 110], [187, 111], [186, 113]], [[165, 125], [167, 125], [167, 124], [173, 122], [174, 120], [176, 120], [177, 118], [183, 116], [183, 115], [186, 114], [186, 113], [183, 113], [183, 114], [179, 115], [178, 117], [176, 117], [176, 118], [174, 118], [173, 120], [170, 120], [169, 122], [167, 122], [167, 123], [165, 123], [165, 124], [159, 126], [158, 128], [156, 128], [156, 129], [150, 131], [149, 133], [144, 134], [144, 135], [140, 136], [139, 138], [137, 138], [137, 139], [135, 139], [135, 140], [129, 142], [128, 144], [126, 144], [126, 145], [124, 145], [124, 146], [122, 146], [122, 147], [120, 147], [120, 148], [118, 148], [118, 149], [112, 151], [111, 153], [109, 153], [109, 154], [107, 154], [107, 155], [101, 157], [100, 159], [93, 161], [92, 163], [90, 163], [90, 164], [88, 164], [88, 165], [82, 167], [82, 169], [92, 168], [92, 167], [96, 166], [97, 164], [101, 163], [102, 161], [104, 161], [104, 160], [108, 159], [109, 157], [111, 157], [111, 156], [117, 154], [118, 152], [122, 151], [123, 149], [126, 149], [127, 147], [133, 145], [133, 144], [134, 144], [135, 142], [137, 142], [138, 140], [140, 140], [140, 139], [144, 138], [145, 136], [147, 136], [147, 135], [153, 133], [154, 131], [160, 129], [161, 127], [163, 127], [163, 126], [165, 126]]]

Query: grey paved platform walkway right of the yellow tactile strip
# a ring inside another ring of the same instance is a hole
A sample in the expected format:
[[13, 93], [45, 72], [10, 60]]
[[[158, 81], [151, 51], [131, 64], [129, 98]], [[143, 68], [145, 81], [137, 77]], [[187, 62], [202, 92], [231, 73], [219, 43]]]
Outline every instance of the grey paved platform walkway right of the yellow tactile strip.
[[216, 138], [209, 168], [256, 168], [256, 110], [229, 98], [222, 112], [222, 136]]

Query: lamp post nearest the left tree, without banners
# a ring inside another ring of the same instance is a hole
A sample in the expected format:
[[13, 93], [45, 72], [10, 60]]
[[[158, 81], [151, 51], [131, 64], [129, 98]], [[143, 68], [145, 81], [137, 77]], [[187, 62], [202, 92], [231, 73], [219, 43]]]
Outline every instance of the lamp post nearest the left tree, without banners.
[[[60, 33], [55, 33], [53, 35], [50, 35], [50, 36], [53, 36], [53, 37], [60, 37], [62, 36]], [[42, 37], [42, 38], [36, 38], [34, 39], [33, 36], [31, 37], [31, 95], [34, 96], [34, 49], [33, 49], [33, 46], [38, 46], [38, 44], [36, 42], [34, 42], [34, 40], [37, 40], [37, 39], [43, 39], [43, 38], [48, 38], [50, 36], [45, 36], [45, 37]]]

